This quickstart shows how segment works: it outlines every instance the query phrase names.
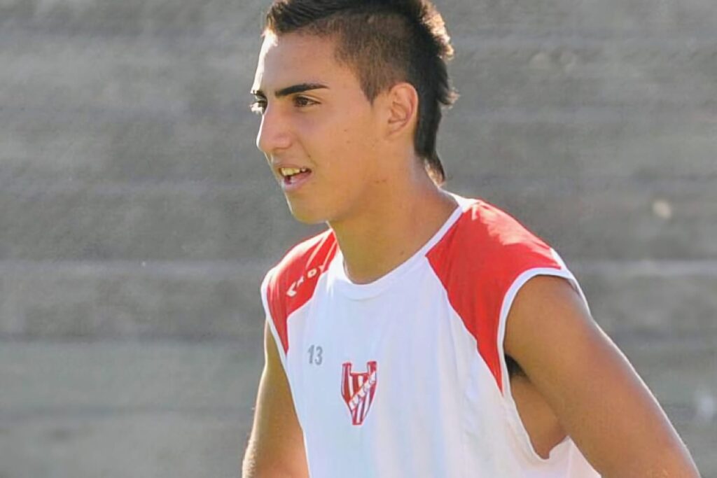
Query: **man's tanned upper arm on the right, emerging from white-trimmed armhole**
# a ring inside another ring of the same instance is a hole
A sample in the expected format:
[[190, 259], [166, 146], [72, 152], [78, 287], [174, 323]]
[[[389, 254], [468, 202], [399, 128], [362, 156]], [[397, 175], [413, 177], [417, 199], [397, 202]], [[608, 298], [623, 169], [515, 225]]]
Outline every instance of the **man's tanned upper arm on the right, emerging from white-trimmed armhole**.
[[655, 398], [566, 280], [538, 276], [523, 285], [505, 353], [603, 477], [698, 477]]

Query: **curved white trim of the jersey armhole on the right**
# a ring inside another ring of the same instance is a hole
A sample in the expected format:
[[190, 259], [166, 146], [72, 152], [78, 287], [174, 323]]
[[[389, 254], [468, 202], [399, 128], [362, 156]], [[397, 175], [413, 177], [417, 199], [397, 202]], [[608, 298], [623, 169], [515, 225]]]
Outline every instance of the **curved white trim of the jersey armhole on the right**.
[[516, 402], [513, 400], [513, 393], [511, 392], [511, 378], [508, 374], [508, 364], [505, 361], [505, 328], [508, 322], [508, 312], [511, 311], [513, 301], [516, 299], [516, 295], [518, 295], [518, 291], [521, 290], [521, 287], [523, 287], [523, 285], [525, 285], [528, 280], [541, 275], [561, 277], [563, 279], [566, 279], [573, 287], [573, 289], [578, 292], [585, 306], [588, 307], [587, 299], [583, 291], [581, 290], [577, 279], [575, 279], [575, 276], [572, 274], [572, 272], [569, 271], [569, 269], [566, 268], [565, 263], [556, 252], [552, 251], [552, 254], [561, 268], [555, 269], [552, 267], [534, 267], [518, 275], [518, 277], [513, 281], [513, 284], [511, 284], [511, 287], [508, 288], [508, 292], [505, 292], [505, 297], [503, 297], [503, 304], [500, 307], [500, 317], [498, 322], [498, 360], [500, 360], [500, 374], [503, 379], [503, 401], [505, 402], [505, 406], [508, 411], [508, 419], [511, 422], [513, 431], [516, 434], [516, 439], [521, 442], [521, 448], [523, 449], [523, 451], [525, 451], [526, 458], [530, 459], [533, 462], [551, 461], [555, 456], [554, 451], [557, 451], [557, 449], [559, 449], [559, 447], [561, 447], [561, 445], [563, 445], [565, 441], [561, 442], [561, 444], [556, 445], [554, 451], [551, 451], [551, 456], [549, 457], [549, 459], [543, 459], [542, 457], [540, 457], [540, 455], [537, 454], [535, 449], [533, 449], [533, 444], [531, 444], [530, 436], [528, 436], [528, 431], [526, 431], [525, 426], [523, 426], [523, 421], [518, 414], [518, 407], [516, 406]]

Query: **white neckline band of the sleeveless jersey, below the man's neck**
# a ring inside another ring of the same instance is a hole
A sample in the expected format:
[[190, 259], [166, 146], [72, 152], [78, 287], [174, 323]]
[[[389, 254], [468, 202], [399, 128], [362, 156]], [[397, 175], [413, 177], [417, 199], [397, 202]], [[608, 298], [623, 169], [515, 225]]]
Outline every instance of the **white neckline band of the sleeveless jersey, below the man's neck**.
[[402, 277], [404, 274], [409, 272], [410, 269], [421, 262], [421, 259], [425, 257], [427, 252], [429, 252], [429, 250], [434, 247], [443, 238], [443, 236], [445, 236], [448, 229], [450, 229], [458, 218], [460, 218], [467, 205], [472, 204], [473, 202], [470, 201], [470, 199], [465, 199], [454, 193], [450, 193], [450, 195], [457, 202], [457, 206], [452, 211], [450, 216], [448, 216], [448, 219], [446, 219], [442, 226], [440, 226], [440, 228], [435, 232], [435, 234], [433, 234], [433, 236], [431, 236], [431, 238], [428, 239], [428, 241], [423, 244], [417, 252], [414, 252], [411, 257], [373, 282], [369, 282], [368, 284], [356, 284], [348, 278], [343, 267], [343, 254], [341, 253], [341, 248], [338, 247], [337, 244], [336, 254], [331, 260], [331, 264], [329, 264], [327, 271], [327, 278], [330, 287], [338, 292], [341, 292], [341, 294], [346, 297], [357, 300], [375, 297], [376, 295], [381, 294], [381, 292], [384, 292], [384, 290], [396, 282], [397, 279]]

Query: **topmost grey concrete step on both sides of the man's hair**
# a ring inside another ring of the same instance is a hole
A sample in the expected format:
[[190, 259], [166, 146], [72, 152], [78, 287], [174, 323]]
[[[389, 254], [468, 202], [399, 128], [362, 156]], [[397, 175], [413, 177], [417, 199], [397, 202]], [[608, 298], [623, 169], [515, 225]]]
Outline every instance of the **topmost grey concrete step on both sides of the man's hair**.
[[[608, 32], [632, 35], [672, 32], [713, 32], [717, 20], [707, 0], [687, 0], [655, 6], [649, 0], [549, 0], [540, 5], [520, 2], [437, 1], [450, 32], [459, 36], [476, 30], [490, 32]], [[260, 11], [269, 0], [232, 4], [212, 0], [138, 0], [122, 4], [103, 1], [5, 0], [0, 19], [25, 27], [62, 32], [102, 34], [207, 34], [222, 27], [228, 32], [258, 28]]]

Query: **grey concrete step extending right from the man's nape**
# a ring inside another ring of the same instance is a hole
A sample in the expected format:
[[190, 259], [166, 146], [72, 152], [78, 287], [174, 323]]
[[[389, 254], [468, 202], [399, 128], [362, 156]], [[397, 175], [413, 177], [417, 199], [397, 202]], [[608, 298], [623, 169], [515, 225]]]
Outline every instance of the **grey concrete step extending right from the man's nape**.
[[696, 114], [619, 120], [601, 109], [474, 116], [459, 108], [447, 114], [438, 142], [451, 184], [475, 185], [481, 175], [670, 182], [717, 174], [717, 123]]

